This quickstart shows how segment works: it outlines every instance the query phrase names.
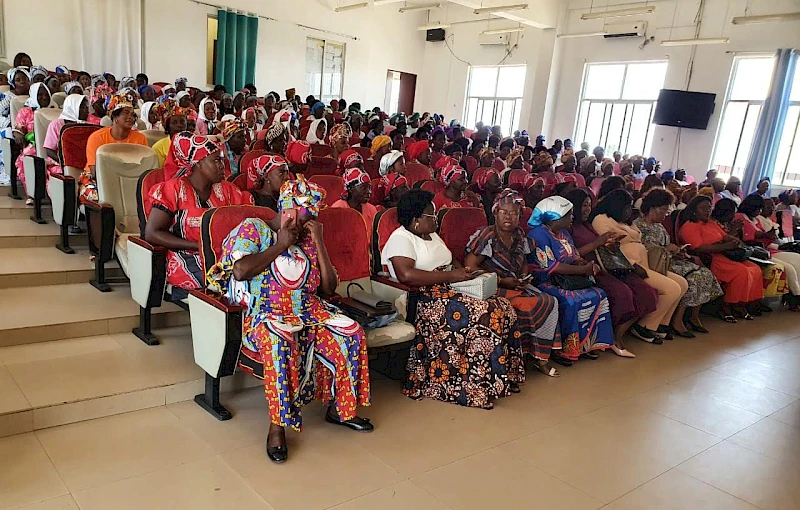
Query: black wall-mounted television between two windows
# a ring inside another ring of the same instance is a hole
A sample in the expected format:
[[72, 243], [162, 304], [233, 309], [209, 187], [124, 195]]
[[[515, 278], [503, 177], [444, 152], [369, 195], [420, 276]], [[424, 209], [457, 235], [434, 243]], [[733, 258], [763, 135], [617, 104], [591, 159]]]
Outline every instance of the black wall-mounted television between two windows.
[[714, 113], [716, 94], [661, 89], [658, 94], [653, 124], [661, 126], [706, 129]]

